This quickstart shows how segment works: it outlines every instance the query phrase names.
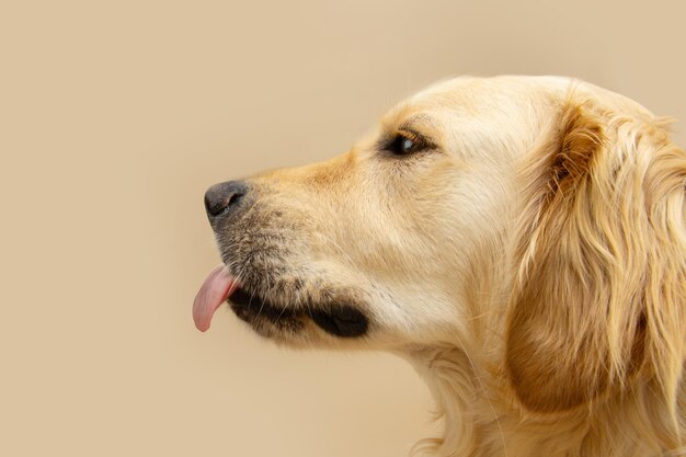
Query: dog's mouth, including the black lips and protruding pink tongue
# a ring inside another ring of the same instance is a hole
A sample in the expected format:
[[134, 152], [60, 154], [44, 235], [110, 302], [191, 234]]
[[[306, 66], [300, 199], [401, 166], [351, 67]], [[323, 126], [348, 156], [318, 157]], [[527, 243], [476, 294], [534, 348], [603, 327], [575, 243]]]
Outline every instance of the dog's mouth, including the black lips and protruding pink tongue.
[[205, 279], [193, 304], [193, 319], [201, 331], [209, 329], [215, 311], [228, 301], [236, 316], [255, 330], [264, 324], [281, 331], [302, 330], [308, 320], [324, 332], [339, 338], [367, 333], [369, 320], [358, 308], [341, 302], [307, 302], [298, 307], [276, 305], [244, 288], [224, 265], [215, 267]]

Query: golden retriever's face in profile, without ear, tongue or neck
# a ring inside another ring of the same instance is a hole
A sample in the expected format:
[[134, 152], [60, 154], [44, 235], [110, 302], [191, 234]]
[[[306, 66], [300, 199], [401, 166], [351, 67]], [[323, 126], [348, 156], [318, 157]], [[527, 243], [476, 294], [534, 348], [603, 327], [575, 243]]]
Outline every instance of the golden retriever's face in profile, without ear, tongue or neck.
[[541, 128], [518, 84], [443, 83], [343, 156], [210, 188], [237, 316], [296, 345], [453, 339], [484, 247], [502, 242], [515, 158]]

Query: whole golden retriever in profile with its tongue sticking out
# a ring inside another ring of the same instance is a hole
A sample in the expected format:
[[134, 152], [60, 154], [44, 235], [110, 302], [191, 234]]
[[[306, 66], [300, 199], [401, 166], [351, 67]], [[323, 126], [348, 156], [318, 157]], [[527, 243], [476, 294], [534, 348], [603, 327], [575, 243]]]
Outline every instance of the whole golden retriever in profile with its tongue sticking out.
[[426, 380], [437, 456], [686, 455], [686, 153], [561, 77], [457, 78], [342, 156], [211, 186], [228, 302], [291, 347], [386, 350]]

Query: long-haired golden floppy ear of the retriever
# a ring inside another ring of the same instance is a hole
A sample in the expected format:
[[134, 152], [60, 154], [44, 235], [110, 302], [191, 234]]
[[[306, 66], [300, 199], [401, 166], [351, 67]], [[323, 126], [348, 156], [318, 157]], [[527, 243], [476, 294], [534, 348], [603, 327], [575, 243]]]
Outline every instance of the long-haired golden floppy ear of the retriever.
[[505, 366], [529, 410], [650, 372], [675, 411], [684, 361], [686, 156], [660, 125], [569, 103], [522, 178]]

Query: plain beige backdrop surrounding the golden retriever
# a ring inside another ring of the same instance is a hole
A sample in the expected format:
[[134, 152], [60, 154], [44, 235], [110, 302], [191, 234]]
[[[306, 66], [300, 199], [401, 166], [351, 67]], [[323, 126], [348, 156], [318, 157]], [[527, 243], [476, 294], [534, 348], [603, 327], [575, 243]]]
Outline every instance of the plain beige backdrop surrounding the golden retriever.
[[[0, 455], [403, 456], [430, 397], [191, 302], [210, 184], [343, 152], [473, 73], [587, 79], [686, 118], [683, 1], [4, 1]], [[676, 138], [686, 144], [684, 123]]]

